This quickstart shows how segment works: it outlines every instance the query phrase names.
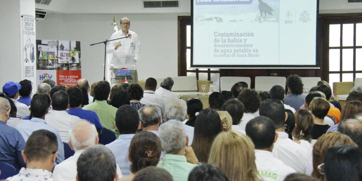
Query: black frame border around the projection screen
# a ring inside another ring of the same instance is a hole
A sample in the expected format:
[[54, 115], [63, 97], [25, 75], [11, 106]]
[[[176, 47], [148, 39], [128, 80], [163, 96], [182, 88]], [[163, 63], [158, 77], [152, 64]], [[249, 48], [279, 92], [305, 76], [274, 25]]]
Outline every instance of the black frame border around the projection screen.
[[194, 31], [193, 31], [193, 25], [194, 25], [194, 1], [196, 0], [190, 0], [191, 1], [191, 52], [190, 52], [190, 68], [223, 68], [223, 69], [289, 69], [289, 68], [295, 68], [295, 69], [320, 69], [320, 64], [318, 61], [318, 58], [321, 58], [319, 52], [320, 45], [318, 43], [318, 25], [319, 25], [319, 0], [316, 0], [316, 56], [315, 56], [315, 65], [199, 65], [193, 63], [193, 37], [194, 37]]

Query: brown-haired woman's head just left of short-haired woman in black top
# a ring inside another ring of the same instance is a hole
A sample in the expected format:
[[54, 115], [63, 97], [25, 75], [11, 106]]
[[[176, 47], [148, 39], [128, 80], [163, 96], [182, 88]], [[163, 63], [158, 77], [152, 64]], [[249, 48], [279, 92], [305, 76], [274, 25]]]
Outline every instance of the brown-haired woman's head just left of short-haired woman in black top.
[[[305, 110], [299, 109], [295, 112], [295, 127], [293, 131], [294, 140], [301, 144], [304, 141], [312, 143], [312, 128], [314, 125], [312, 114]], [[313, 141], [315, 143], [315, 141]]]

